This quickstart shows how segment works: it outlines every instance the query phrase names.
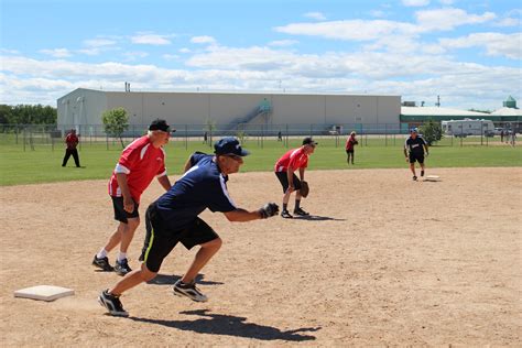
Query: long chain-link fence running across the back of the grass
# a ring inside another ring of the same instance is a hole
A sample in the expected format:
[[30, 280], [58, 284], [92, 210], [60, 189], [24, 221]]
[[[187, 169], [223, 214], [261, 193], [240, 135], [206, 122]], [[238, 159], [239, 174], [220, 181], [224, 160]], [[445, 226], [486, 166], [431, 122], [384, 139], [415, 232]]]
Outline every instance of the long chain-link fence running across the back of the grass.
[[[121, 149], [123, 144], [146, 133], [149, 124], [129, 126], [120, 138], [115, 138], [105, 132], [102, 124], [56, 126], [56, 124], [0, 124], [0, 145], [19, 146], [24, 151], [36, 148], [59, 150], [64, 146], [64, 138], [70, 129], [76, 129], [79, 135], [79, 149], [97, 146]], [[248, 146], [263, 148], [267, 142], [282, 142], [290, 146], [290, 142], [303, 137], [313, 135], [320, 139], [326, 145], [344, 146], [350, 132], [358, 134], [360, 146], [403, 146], [409, 137], [410, 127], [422, 127], [422, 123], [393, 123], [393, 124], [171, 124], [176, 131], [172, 133], [171, 141], [188, 148], [189, 142], [202, 142], [211, 145], [222, 137], [237, 137]], [[468, 145], [500, 145], [516, 142], [516, 133], [521, 129], [520, 122], [504, 123], [501, 127], [479, 124], [472, 132], [465, 128], [445, 130], [443, 139], [436, 145], [468, 146]]]

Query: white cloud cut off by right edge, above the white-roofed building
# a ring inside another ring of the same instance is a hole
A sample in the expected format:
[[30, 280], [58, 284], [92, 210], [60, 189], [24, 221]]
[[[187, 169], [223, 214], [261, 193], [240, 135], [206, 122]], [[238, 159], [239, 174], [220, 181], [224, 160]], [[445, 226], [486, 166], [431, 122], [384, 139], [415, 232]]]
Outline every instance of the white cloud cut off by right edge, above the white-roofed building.
[[[488, 55], [505, 56], [522, 59], [522, 33], [475, 33], [457, 39], [439, 39], [441, 45], [447, 48], [485, 47]], [[519, 74], [520, 75], [520, 74]]]

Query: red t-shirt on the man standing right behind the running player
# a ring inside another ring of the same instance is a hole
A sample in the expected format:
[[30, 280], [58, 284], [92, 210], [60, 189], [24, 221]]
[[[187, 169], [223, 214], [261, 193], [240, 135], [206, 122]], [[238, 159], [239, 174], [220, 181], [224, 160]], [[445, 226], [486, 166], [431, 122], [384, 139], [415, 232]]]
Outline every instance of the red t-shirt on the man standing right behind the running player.
[[141, 194], [152, 180], [166, 175], [165, 152], [162, 148], [154, 148], [146, 135], [134, 140], [123, 150], [109, 181], [109, 195], [121, 197], [116, 173], [127, 174], [131, 196], [140, 203]]

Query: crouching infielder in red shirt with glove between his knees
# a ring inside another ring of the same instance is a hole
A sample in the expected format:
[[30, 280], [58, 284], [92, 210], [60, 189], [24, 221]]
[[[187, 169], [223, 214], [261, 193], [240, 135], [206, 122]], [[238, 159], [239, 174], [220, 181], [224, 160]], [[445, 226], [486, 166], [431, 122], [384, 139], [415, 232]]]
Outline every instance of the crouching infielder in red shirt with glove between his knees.
[[[274, 166], [275, 176], [278, 176], [281, 185], [283, 186], [283, 209], [281, 216], [285, 219], [291, 219], [293, 216], [289, 213], [289, 200], [290, 195], [295, 191], [295, 207], [294, 214], [300, 216], [309, 215], [303, 208], [301, 208], [301, 182], [304, 181], [304, 173], [308, 166], [308, 156], [314, 153], [315, 146], [318, 143], [312, 138], [307, 137], [303, 140], [303, 145], [297, 149], [287, 151], [281, 159], [278, 160]], [[300, 170], [300, 178], [294, 174], [296, 170]]]

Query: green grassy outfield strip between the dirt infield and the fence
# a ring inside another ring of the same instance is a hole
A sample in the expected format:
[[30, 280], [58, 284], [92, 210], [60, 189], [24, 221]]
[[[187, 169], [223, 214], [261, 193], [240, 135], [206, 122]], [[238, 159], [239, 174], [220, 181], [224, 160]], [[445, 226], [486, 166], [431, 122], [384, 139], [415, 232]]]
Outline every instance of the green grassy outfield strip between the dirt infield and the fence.
[[[312, 155], [308, 170], [339, 168], [391, 168], [404, 167], [402, 153], [404, 138], [389, 135], [360, 139], [356, 148], [356, 165], [347, 166], [344, 139], [336, 144], [335, 139], [318, 139], [319, 145]], [[488, 146], [480, 145], [481, 139], [466, 139], [466, 145], [459, 146], [459, 140], [445, 140], [431, 149], [426, 165], [428, 167], [477, 167], [477, 166], [522, 166], [522, 149], [500, 144], [498, 140], [488, 140]], [[482, 140], [486, 144], [486, 140]], [[290, 148], [300, 145], [298, 139], [289, 141]], [[287, 150], [275, 140], [249, 139], [244, 146], [251, 152], [242, 166], [242, 172], [272, 171], [275, 161]], [[194, 151], [210, 153], [208, 145], [200, 141], [173, 140], [166, 146], [166, 165], [170, 174], [180, 174], [186, 159]], [[121, 153], [118, 143], [84, 142], [79, 157], [84, 168], [76, 168], [73, 159], [67, 167], [62, 167], [64, 149], [62, 144], [37, 144], [34, 150], [29, 145], [25, 151], [21, 144], [0, 144], [0, 186], [109, 178]]]

